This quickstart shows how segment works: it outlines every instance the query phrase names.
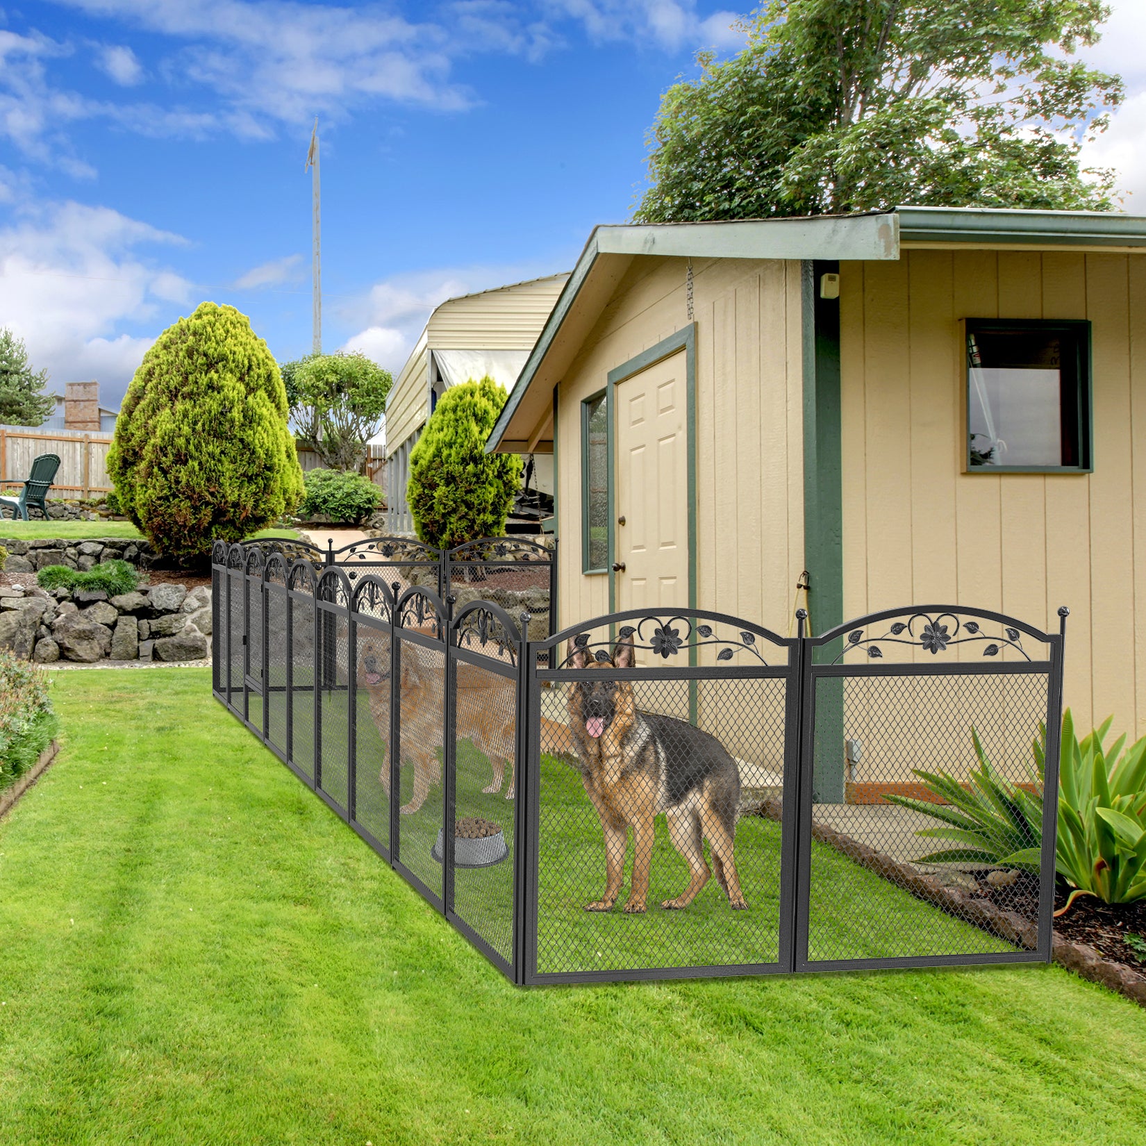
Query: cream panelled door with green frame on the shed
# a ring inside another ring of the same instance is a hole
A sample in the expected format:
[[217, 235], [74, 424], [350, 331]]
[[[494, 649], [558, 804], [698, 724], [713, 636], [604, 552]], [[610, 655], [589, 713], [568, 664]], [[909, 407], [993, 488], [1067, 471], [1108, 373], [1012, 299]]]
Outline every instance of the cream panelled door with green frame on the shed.
[[620, 383], [617, 403], [618, 609], [689, 604], [689, 445], [684, 351]]

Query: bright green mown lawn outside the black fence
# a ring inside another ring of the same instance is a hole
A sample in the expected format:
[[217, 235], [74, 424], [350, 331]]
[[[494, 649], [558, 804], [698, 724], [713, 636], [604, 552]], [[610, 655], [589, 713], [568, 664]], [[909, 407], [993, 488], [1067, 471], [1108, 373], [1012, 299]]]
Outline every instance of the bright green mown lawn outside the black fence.
[[520, 990], [207, 670], [55, 698], [64, 751], [0, 824], [0, 1141], [1140, 1137], [1146, 1013], [1061, 968]]

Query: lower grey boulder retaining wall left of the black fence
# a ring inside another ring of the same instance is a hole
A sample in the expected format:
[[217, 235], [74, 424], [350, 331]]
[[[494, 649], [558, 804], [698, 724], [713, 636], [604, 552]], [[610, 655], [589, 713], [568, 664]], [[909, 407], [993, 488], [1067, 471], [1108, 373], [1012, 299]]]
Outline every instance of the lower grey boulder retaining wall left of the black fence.
[[211, 590], [157, 584], [109, 598], [84, 589], [0, 586], [0, 649], [57, 660], [202, 660], [211, 637]]

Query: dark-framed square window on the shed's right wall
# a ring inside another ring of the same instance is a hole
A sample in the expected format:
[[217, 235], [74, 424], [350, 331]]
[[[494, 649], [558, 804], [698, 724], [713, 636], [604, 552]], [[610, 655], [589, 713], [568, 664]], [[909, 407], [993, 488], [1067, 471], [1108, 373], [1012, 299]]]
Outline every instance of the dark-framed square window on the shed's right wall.
[[968, 472], [1090, 466], [1090, 323], [968, 319]]

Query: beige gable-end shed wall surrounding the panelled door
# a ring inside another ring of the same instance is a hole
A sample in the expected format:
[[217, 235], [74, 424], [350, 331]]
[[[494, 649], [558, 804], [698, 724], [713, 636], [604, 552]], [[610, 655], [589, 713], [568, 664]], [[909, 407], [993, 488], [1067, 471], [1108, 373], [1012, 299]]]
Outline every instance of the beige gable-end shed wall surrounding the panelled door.
[[[685, 277], [634, 260], [558, 387], [562, 628], [609, 611], [607, 575], [581, 572], [581, 402], [688, 324]], [[803, 563], [800, 265], [694, 260], [693, 308], [697, 604], [783, 636]]]

